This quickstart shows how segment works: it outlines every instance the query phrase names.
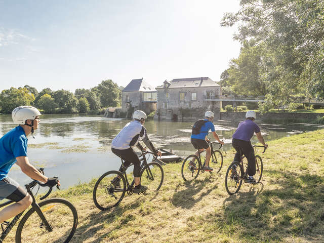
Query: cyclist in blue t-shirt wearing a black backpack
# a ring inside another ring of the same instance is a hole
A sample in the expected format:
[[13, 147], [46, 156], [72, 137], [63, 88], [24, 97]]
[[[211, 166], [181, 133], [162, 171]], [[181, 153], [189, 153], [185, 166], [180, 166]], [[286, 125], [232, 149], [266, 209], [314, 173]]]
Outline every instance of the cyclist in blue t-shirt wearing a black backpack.
[[[209, 160], [211, 158], [211, 147], [209, 146], [207, 135], [209, 133], [209, 130], [212, 131], [212, 134], [214, 138], [221, 144], [224, 144], [223, 141], [221, 141], [215, 132], [215, 126], [212, 123], [214, 119], [214, 113], [212, 111], [206, 111], [205, 113], [205, 121], [206, 123], [200, 128], [199, 134], [191, 134], [191, 144], [195, 149], [198, 149], [195, 153], [196, 156], [198, 156], [198, 152], [202, 152], [206, 150], [206, 165], [201, 168], [205, 171], [213, 171], [213, 168], [209, 166]], [[190, 161], [190, 166], [195, 166], [193, 161]]]

